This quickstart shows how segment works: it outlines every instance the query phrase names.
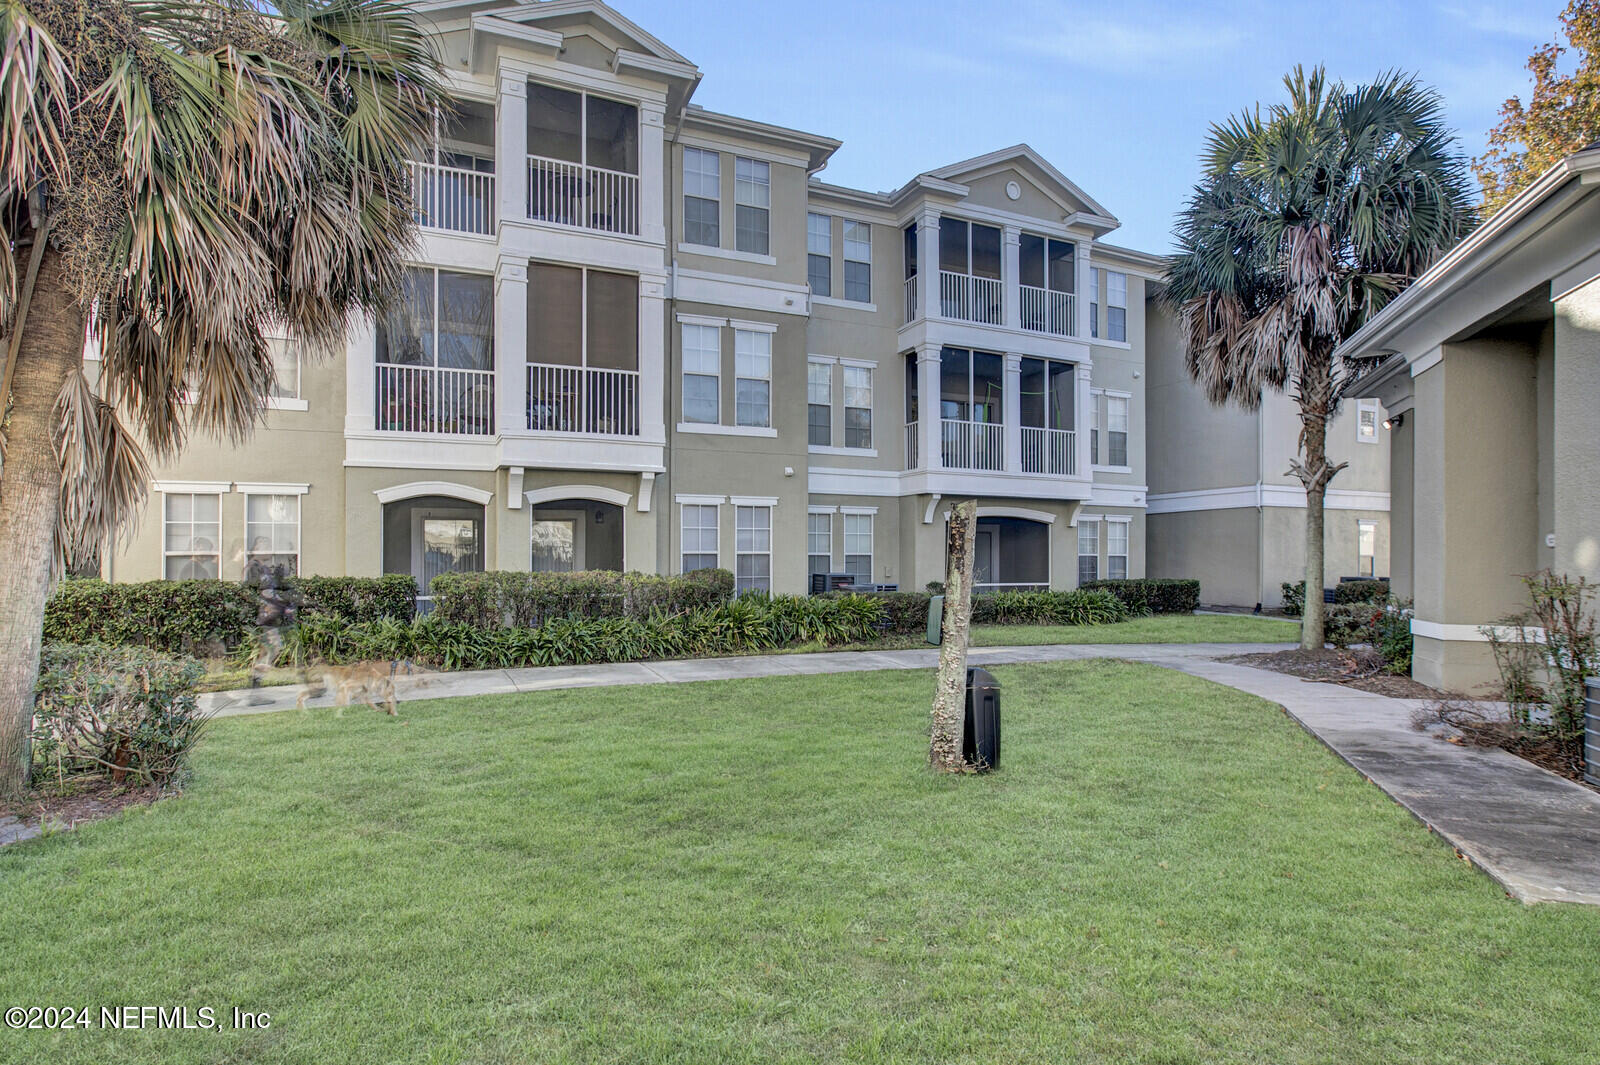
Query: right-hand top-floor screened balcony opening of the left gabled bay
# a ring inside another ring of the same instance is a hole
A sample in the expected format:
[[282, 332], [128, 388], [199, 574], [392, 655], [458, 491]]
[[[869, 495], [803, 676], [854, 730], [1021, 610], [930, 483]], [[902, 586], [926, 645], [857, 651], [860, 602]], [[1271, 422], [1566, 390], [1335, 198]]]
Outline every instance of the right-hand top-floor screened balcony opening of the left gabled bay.
[[638, 109], [528, 85], [528, 217], [638, 235]]

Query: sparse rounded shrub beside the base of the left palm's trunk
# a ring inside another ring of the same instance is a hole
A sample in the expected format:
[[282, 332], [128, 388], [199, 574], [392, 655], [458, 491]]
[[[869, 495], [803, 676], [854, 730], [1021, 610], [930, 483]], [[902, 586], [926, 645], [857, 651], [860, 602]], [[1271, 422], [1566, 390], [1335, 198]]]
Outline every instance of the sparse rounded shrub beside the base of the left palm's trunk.
[[96, 776], [130, 787], [187, 769], [210, 715], [195, 686], [205, 667], [147, 648], [45, 646], [34, 699], [35, 782]]

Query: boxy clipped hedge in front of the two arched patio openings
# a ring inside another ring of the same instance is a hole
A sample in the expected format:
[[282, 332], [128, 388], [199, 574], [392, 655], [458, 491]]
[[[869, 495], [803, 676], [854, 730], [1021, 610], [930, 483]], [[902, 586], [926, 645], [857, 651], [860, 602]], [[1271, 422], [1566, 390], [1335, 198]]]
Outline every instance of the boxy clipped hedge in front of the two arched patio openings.
[[434, 577], [434, 614], [478, 628], [533, 628], [555, 617], [632, 617], [709, 609], [733, 596], [726, 569], [648, 572], [451, 572]]

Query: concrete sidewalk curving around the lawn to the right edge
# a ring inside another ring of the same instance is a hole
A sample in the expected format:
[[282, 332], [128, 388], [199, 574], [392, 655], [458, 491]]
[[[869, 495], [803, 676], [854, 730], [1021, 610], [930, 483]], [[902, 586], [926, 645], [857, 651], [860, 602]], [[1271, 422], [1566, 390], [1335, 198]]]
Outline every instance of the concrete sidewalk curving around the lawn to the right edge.
[[[1411, 728], [1411, 713], [1426, 705], [1339, 684], [1304, 681], [1218, 657], [1280, 651], [1293, 644], [1048, 644], [974, 648], [973, 665], [1126, 659], [1179, 670], [1235, 688], [1288, 712], [1339, 758], [1387, 792], [1459, 854], [1523, 902], [1600, 905], [1600, 793], [1563, 780], [1502, 750], [1458, 747], [1437, 732]], [[682, 684], [706, 680], [797, 676], [867, 670], [933, 668], [939, 652], [835, 651], [768, 654], [734, 659], [626, 662], [475, 673], [400, 676], [397, 697], [450, 699], [558, 688], [616, 684]], [[251, 705], [246, 692], [213, 692], [203, 705], [218, 716], [290, 710], [299, 688], [266, 688]], [[333, 696], [307, 702], [326, 707]]]

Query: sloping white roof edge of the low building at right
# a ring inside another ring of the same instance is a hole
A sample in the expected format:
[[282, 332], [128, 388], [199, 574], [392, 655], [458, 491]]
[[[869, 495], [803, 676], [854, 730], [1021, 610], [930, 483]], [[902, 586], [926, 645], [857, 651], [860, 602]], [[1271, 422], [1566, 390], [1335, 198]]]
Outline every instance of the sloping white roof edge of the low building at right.
[[[1366, 325], [1352, 333], [1339, 345], [1338, 353], [1347, 358], [1362, 358], [1370, 352], [1378, 353], [1373, 349], [1387, 344], [1395, 333], [1411, 325], [1438, 299], [1466, 283], [1469, 267], [1488, 254], [1488, 248], [1507, 230], [1528, 217], [1528, 214], [1544, 205], [1546, 200], [1574, 178], [1581, 184], [1589, 184], [1589, 176], [1597, 173], [1600, 173], [1600, 147], [1574, 152], [1550, 166], [1538, 181], [1496, 211], [1490, 221], [1472, 230], [1466, 240], [1424, 270], [1403, 293], [1389, 301], [1387, 307], [1373, 315]], [[1362, 377], [1362, 381], [1365, 379], [1366, 376]]]

